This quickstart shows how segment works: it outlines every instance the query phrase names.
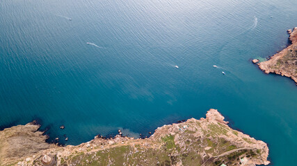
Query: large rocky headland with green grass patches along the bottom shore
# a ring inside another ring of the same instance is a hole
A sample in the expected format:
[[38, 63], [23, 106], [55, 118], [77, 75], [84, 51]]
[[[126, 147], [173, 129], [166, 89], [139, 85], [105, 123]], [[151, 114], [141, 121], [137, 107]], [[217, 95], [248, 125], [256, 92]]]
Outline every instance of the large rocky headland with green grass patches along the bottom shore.
[[216, 110], [159, 127], [145, 139], [124, 136], [61, 147], [38, 124], [0, 131], [0, 165], [268, 165], [265, 142], [231, 129]]

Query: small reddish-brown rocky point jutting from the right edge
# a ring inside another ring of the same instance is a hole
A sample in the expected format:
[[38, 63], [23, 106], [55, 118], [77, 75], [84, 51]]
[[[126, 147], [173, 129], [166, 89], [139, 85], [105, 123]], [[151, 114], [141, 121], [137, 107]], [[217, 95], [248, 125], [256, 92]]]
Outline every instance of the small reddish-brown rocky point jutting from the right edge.
[[288, 30], [291, 45], [284, 48], [266, 62], [260, 62], [259, 68], [265, 73], [275, 73], [278, 75], [291, 77], [297, 84], [297, 27]]

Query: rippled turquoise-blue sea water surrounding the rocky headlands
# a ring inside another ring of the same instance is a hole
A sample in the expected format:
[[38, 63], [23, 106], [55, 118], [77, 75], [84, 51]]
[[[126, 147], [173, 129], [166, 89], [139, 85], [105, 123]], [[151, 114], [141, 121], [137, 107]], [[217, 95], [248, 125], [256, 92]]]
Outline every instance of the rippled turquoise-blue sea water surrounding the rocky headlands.
[[3, 0], [0, 126], [38, 119], [77, 145], [214, 108], [296, 165], [297, 86], [250, 62], [286, 46], [296, 15], [296, 0]]

